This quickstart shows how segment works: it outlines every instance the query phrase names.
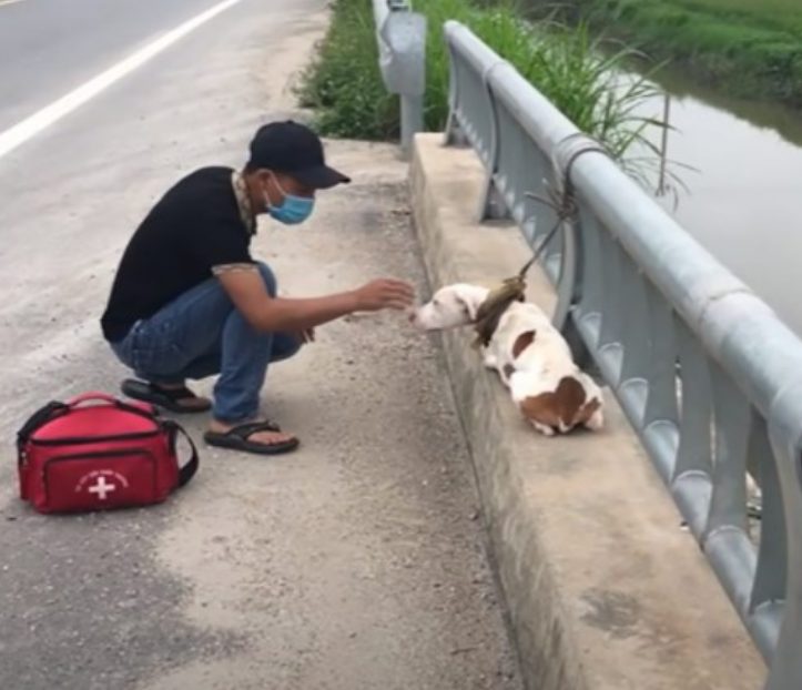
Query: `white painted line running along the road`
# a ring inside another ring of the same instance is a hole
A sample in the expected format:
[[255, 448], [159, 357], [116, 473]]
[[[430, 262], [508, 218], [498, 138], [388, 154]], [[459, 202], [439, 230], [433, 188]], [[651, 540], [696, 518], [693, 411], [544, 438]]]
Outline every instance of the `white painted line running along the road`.
[[[8, 0], [7, 0], [8, 1]], [[19, 0], [17, 0], [19, 1]], [[149, 43], [144, 48], [138, 50], [121, 62], [101, 72], [93, 79], [90, 79], [78, 89], [70, 91], [67, 95], [53, 101], [50, 105], [45, 105], [40, 111], [33, 113], [30, 118], [26, 118], [12, 128], [0, 132], [0, 158], [13, 151], [20, 144], [50, 126], [61, 118], [70, 114], [73, 110], [83, 105], [87, 101], [98, 95], [101, 91], [121, 80], [126, 74], [133, 72], [136, 68], [142, 67], [151, 58], [154, 58], [163, 50], [170, 48], [173, 43], [181, 40], [191, 31], [206, 23], [221, 12], [237, 4], [241, 0], [224, 0], [205, 12], [185, 21], [183, 24], [167, 31], [164, 35]]]

